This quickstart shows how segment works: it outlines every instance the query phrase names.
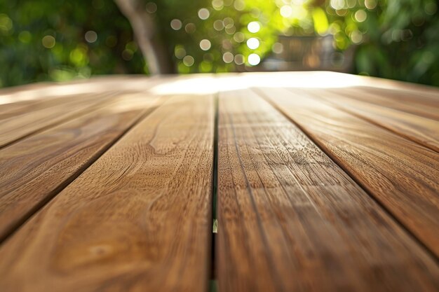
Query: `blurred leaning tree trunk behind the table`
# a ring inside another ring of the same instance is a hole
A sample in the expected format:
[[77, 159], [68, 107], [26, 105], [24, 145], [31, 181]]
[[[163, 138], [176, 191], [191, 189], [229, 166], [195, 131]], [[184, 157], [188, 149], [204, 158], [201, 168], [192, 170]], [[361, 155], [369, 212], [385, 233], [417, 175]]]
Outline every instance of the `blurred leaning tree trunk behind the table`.
[[156, 34], [154, 20], [145, 10], [142, 1], [114, 0], [114, 2], [133, 27], [135, 38], [148, 64], [149, 72], [152, 75], [175, 73], [168, 52], [163, 46], [160, 36]]

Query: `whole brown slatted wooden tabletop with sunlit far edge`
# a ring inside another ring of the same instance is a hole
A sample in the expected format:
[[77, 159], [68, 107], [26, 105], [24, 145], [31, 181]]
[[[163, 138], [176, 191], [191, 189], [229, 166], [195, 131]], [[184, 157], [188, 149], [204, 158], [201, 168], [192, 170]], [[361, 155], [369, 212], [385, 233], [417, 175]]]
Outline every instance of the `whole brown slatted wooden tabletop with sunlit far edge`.
[[0, 147], [2, 292], [439, 291], [435, 88], [26, 85], [0, 92]]

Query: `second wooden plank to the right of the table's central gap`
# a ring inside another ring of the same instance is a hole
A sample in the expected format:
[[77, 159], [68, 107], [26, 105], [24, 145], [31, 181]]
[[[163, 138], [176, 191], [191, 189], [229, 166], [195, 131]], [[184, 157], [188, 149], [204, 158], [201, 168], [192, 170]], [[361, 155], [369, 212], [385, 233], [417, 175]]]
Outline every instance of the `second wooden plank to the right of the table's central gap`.
[[333, 106], [259, 89], [439, 255], [439, 154]]

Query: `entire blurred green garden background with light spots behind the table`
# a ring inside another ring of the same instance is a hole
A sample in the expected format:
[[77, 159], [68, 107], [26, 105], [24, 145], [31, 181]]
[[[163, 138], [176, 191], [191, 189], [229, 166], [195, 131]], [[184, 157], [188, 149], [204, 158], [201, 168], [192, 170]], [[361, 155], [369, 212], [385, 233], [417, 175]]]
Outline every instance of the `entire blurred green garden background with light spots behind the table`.
[[154, 58], [162, 73], [330, 69], [439, 86], [438, 53], [434, 0], [0, 0], [0, 87], [154, 74]]

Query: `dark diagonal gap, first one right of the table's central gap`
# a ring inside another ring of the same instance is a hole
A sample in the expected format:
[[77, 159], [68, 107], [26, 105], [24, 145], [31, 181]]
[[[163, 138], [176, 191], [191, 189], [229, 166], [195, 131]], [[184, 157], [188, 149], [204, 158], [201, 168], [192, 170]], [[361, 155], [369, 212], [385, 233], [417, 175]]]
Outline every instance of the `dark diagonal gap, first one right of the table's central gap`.
[[433, 251], [431, 251], [431, 249], [429, 249], [428, 246], [426, 246], [426, 244], [424, 244], [424, 242], [421, 241], [421, 239], [419, 239], [416, 235], [414, 235], [414, 233], [410, 229], [408, 229], [401, 221], [399, 221], [399, 219], [384, 204], [381, 203], [381, 201], [372, 193], [372, 191], [369, 190], [369, 188], [367, 188], [367, 186], [365, 186], [363, 183], [358, 181], [358, 179], [356, 179], [356, 176], [354, 176], [349, 171], [349, 169], [346, 169], [346, 167], [343, 167], [341, 160], [337, 159], [337, 157], [335, 157], [333, 155], [330, 155], [330, 153], [329, 153], [329, 151], [327, 151], [327, 148], [325, 147], [325, 145], [320, 144], [318, 139], [314, 139], [313, 135], [309, 131], [305, 130], [304, 127], [302, 127], [298, 123], [296, 123], [294, 119], [290, 118], [290, 116], [288, 116], [288, 114], [286, 114], [285, 111], [283, 111], [283, 109], [281, 109], [275, 102], [273, 102], [271, 100], [271, 98], [266, 96], [265, 93], [262, 92], [262, 90], [259, 90], [258, 88], [249, 88], [249, 89], [252, 90], [253, 92], [255, 92], [257, 95], [259, 95], [259, 97], [262, 97], [264, 100], [266, 100], [266, 102], [268, 102], [271, 106], [273, 106], [274, 109], [279, 111], [283, 116], [285, 116], [285, 118], [290, 120], [290, 122], [292, 124], [294, 124], [299, 130], [301, 130], [306, 135], [306, 137], [308, 137], [313, 142], [313, 144], [316, 144], [316, 146], [321, 151], [323, 151], [323, 153], [325, 153], [325, 155], [327, 155], [327, 157], [330, 158], [330, 160], [335, 162], [335, 164], [338, 165], [338, 167], [340, 167], [340, 169], [342, 169], [353, 181], [355, 181], [355, 183], [357, 183], [358, 186], [360, 186], [360, 188], [362, 188], [365, 191], [365, 193], [369, 197], [371, 197], [372, 200], [374, 200], [374, 202], [376, 202], [378, 204], [378, 206], [381, 207], [381, 209], [383, 209], [384, 212], [386, 214], [388, 214], [389, 217], [393, 221], [395, 221], [395, 223], [400, 228], [402, 228], [402, 230], [404, 230], [409, 237], [411, 237], [414, 240], [415, 243], [419, 244], [421, 249], [423, 249], [428, 254], [428, 256], [431, 256], [431, 258], [433, 258], [435, 263], [439, 264], [439, 258], [435, 255], [435, 253], [433, 253]]

